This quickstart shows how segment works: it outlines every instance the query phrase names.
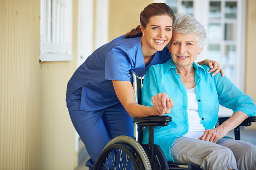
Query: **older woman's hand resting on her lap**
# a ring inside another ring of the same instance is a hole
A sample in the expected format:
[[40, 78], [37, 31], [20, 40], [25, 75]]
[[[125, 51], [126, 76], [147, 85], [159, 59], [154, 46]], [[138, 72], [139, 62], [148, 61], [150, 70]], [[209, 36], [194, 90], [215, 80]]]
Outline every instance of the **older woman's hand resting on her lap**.
[[228, 131], [228, 129], [218, 126], [214, 129], [205, 130], [204, 134], [198, 139], [216, 143], [220, 138], [224, 137]]

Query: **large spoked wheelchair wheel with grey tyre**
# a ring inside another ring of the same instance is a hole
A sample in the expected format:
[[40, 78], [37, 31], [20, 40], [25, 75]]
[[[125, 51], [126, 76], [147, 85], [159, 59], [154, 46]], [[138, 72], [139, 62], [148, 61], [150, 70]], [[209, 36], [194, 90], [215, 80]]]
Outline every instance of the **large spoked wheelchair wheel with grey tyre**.
[[[97, 159], [94, 170], [101, 170], [104, 167], [108, 169], [108, 162], [113, 163], [113, 150], [119, 149], [126, 153], [126, 159], [129, 157], [130, 161], [132, 162], [133, 168], [132, 169], [139, 169], [139, 170], [151, 170], [151, 165], [148, 160], [147, 154], [144, 151], [143, 147], [133, 138], [129, 136], [118, 136], [112, 139], [103, 149], [101, 155]], [[106, 161], [109, 158], [110, 161]], [[120, 162], [122, 162], [120, 158]], [[127, 160], [126, 160], [127, 161]], [[107, 162], [107, 163], [106, 163]], [[116, 164], [116, 161], [114, 161]], [[106, 163], [106, 165], [105, 165]], [[121, 164], [121, 163], [120, 163]], [[115, 167], [115, 169], [125, 169], [123, 166]]]

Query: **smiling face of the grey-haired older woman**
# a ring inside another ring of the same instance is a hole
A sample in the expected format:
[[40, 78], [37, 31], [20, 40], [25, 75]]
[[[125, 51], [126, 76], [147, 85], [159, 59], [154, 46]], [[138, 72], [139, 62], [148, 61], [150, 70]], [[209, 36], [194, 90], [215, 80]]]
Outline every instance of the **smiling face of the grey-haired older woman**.
[[192, 66], [197, 54], [201, 53], [196, 36], [194, 34], [173, 33], [173, 40], [170, 44], [170, 54], [174, 63], [181, 66]]

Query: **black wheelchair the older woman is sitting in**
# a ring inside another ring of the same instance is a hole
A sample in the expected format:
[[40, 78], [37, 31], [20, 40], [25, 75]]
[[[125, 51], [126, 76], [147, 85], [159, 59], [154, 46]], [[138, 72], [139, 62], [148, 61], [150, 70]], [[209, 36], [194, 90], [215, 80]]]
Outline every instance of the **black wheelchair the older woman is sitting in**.
[[[133, 74], [133, 88], [138, 104], [141, 104], [141, 91], [143, 78]], [[220, 117], [219, 124], [229, 117]], [[171, 123], [170, 116], [149, 116], [134, 118], [134, 138], [129, 136], [118, 136], [113, 138], [103, 149], [98, 157], [94, 170], [101, 169], [201, 169], [192, 164], [179, 164], [167, 162], [161, 148], [154, 144], [154, 127], [167, 126]], [[248, 117], [234, 129], [235, 140], [240, 140], [240, 126], [250, 126], [256, 122], [256, 116]], [[142, 144], [143, 128], [148, 126], [148, 144]], [[163, 127], [164, 128], [164, 127]], [[118, 155], [118, 156], [116, 156]], [[118, 158], [118, 159], [117, 159]]]

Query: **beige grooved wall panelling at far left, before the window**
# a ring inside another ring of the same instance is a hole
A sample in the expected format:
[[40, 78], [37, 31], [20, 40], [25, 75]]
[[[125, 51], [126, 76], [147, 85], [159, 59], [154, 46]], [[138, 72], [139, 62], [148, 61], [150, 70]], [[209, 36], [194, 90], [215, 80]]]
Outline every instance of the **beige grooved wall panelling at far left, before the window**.
[[0, 7], [0, 169], [39, 169], [40, 1]]

